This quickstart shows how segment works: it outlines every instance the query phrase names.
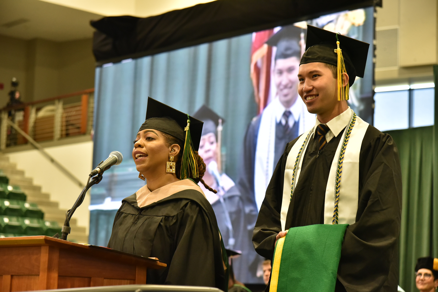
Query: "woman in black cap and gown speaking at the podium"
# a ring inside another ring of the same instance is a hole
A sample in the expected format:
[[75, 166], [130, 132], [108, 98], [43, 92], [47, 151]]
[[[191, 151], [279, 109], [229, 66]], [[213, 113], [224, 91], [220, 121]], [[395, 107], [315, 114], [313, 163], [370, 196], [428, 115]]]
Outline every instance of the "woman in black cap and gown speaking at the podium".
[[[228, 260], [212, 206], [198, 186], [205, 163], [196, 150], [202, 122], [148, 98], [132, 158], [147, 184], [122, 201], [108, 247], [167, 264], [148, 284], [227, 291]], [[207, 189], [209, 188], [205, 185]]]

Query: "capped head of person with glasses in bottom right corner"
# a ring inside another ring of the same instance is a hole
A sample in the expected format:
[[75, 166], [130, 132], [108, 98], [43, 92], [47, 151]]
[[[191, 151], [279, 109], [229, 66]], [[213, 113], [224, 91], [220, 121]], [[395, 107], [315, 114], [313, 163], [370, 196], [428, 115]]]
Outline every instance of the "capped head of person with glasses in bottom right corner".
[[434, 292], [438, 287], [438, 259], [420, 257], [415, 266], [415, 284], [421, 292]]

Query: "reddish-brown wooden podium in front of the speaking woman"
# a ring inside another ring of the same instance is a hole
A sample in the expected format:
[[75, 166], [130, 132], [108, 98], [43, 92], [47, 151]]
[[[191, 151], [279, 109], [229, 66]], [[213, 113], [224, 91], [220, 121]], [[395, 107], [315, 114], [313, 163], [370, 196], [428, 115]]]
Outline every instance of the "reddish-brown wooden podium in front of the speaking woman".
[[0, 292], [146, 284], [158, 259], [48, 236], [0, 238]]

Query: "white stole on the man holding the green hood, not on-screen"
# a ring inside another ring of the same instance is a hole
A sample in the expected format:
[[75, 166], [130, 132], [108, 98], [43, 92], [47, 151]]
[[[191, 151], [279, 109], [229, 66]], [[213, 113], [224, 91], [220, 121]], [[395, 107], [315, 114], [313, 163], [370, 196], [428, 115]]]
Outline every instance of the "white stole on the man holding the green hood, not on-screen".
[[[353, 110], [351, 110], [353, 114]], [[364, 122], [361, 118], [356, 117], [356, 122], [351, 130], [350, 139], [348, 140], [343, 166], [342, 166], [342, 176], [340, 181], [340, 191], [339, 191], [339, 224], [353, 224], [356, 222], [357, 204], [359, 198], [359, 154], [360, 146], [362, 145], [362, 140], [364, 139], [365, 132], [368, 129], [368, 123]], [[305, 132], [300, 139], [292, 146], [289, 155], [286, 160], [286, 169], [284, 171], [284, 183], [283, 183], [283, 200], [281, 205], [280, 221], [282, 230], [285, 230], [286, 216], [290, 204], [290, 191], [292, 183], [292, 173], [293, 167], [297, 160], [298, 151], [306, 139], [307, 134], [310, 132]], [[338, 148], [336, 149], [335, 156], [333, 158], [332, 165], [329, 171], [329, 178], [327, 181], [327, 188], [325, 189], [325, 207], [324, 207], [324, 224], [332, 224], [333, 211], [334, 211], [334, 193], [335, 193], [335, 177], [336, 177], [336, 165], [338, 163], [339, 152], [342, 146], [342, 142], [346, 133], [346, 129], [342, 134], [342, 138], [339, 142]], [[313, 136], [313, 131], [311, 133]], [[308, 143], [303, 149], [303, 156], [306, 152]], [[297, 180], [295, 186], [298, 184], [300, 178], [301, 165], [303, 159], [301, 158], [297, 169]]]

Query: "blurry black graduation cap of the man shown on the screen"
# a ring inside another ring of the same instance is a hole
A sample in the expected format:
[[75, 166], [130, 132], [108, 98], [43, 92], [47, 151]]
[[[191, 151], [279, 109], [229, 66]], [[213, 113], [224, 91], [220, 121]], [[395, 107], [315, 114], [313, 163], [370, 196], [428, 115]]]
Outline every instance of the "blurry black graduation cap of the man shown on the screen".
[[282, 27], [272, 35], [266, 44], [277, 47], [275, 59], [287, 59], [290, 57], [301, 57], [300, 38], [301, 32], [305, 30], [295, 25]]

